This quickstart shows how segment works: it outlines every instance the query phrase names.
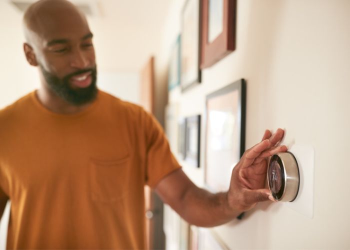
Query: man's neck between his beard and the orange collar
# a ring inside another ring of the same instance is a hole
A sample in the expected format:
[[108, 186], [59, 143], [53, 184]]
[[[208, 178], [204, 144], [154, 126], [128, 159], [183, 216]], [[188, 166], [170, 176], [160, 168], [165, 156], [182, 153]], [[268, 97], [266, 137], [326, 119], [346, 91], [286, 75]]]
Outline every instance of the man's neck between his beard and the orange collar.
[[41, 86], [41, 88], [36, 91], [36, 97], [43, 106], [55, 113], [74, 114], [85, 110], [91, 105], [91, 103], [78, 106], [71, 104], [57, 96], [45, 86]]

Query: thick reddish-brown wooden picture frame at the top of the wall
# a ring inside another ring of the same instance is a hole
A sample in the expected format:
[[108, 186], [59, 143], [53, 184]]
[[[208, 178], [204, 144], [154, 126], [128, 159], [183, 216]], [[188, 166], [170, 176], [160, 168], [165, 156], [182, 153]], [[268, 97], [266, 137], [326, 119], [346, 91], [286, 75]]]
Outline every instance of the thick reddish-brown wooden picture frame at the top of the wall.
[[236, 0], [222, 0], [222, 31], [211, 42], [208, 39], [209, 1], [202, 0], [200, 68], [212, 66], [235, 49]]

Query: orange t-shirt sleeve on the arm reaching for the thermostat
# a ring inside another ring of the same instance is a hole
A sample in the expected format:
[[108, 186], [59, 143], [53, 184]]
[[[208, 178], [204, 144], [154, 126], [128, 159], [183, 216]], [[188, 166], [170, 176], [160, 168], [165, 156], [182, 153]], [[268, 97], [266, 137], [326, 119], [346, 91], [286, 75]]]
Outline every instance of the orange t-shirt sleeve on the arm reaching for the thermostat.
[[161, 125], [156, 119], [146, 113], [145, 138], [146, 138], [146, 184], [154, 188], [158, 182], [170, 172], [181, 168], [175, 156], [171, 153], [169, 143]]

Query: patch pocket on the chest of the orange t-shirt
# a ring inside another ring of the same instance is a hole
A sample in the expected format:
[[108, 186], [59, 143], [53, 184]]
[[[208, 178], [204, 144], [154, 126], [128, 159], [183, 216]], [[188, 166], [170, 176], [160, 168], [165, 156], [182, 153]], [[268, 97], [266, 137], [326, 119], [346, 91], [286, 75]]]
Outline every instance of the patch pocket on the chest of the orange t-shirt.
[[113, 202], [124, 198], [129, 192], [129, 172], [129, 156], [108, 161], [91, 159], [91, 199], [101, 202]]

